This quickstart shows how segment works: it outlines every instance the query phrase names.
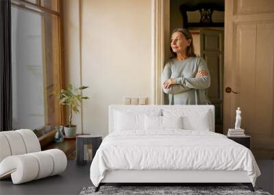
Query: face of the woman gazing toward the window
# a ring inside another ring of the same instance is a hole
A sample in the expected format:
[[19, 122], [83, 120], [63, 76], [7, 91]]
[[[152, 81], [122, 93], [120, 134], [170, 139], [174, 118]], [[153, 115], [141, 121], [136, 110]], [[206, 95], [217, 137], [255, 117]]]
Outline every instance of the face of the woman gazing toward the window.
[[186, 51], [186, 47], [190, 45], [191, 40], [186, 39], [181, 32], [175, 32], [171, 36], [171, 49], [174, 53], [182, 53]]

